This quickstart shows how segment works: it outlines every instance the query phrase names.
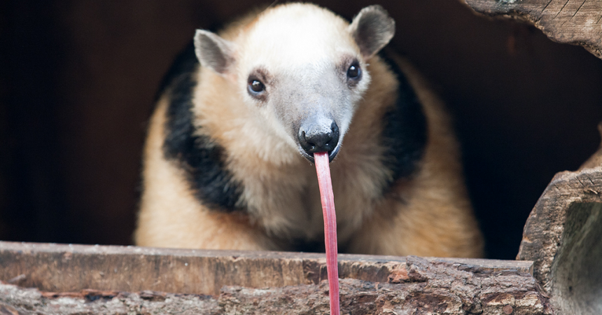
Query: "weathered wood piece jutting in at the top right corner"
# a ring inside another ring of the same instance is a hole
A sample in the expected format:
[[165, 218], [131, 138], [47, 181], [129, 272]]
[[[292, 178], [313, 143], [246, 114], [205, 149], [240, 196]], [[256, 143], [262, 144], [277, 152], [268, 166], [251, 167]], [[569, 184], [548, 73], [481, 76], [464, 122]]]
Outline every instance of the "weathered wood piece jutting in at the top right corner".
[[559, 43], [602, 58], [602, 0], [464, 0], [478, 13], [526, 20]]

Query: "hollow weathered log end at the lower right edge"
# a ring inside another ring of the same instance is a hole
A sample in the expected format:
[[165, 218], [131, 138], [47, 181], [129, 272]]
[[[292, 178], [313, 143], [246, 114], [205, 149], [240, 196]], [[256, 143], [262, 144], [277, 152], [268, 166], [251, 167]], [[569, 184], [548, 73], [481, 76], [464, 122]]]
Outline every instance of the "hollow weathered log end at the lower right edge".
[[554, 176], [526, 221], [517, 259], [533, 260], [533, 275], [563, 314], [602, 314], [602, 146], [577, 172]]

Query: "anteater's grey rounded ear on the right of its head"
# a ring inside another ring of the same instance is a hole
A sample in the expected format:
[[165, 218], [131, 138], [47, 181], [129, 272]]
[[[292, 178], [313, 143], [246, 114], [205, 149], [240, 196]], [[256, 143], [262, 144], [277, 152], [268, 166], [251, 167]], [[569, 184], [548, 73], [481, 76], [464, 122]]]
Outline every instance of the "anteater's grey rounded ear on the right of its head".
[[349, 32], [365, 59], [379, 52], [395, 35], [395, 20], [379, 5], [367, 6], [353, 18]]

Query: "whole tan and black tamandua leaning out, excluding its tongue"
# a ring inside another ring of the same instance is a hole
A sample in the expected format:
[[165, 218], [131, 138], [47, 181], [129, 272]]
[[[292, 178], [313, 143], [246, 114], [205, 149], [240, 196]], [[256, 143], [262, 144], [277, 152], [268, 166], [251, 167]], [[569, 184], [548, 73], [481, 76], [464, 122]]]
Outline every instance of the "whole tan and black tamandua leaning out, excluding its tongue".
[[482, 255], [449, 118], [381, 52], [394, 33], [381, 6], [349, 23], [307, 3], [197, 30], [151, 118], [136, 244], [320, 250], [327, 151], [339, 251]]

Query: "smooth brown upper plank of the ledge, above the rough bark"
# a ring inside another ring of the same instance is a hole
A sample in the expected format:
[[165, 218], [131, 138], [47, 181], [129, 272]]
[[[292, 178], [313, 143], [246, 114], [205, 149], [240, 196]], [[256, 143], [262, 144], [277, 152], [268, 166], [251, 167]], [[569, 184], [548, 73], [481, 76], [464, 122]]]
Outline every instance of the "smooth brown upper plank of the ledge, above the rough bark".
[[[427, 258], [479, 274], [528, 274], [531, 262]], [[405, 257], [339, 255], [339, 276], [387, 282]], [[320, 253], [207, 251], [0, 241], [0, 280], [53, 292], [83, 289], [213, 294], [222, 286], [294, 286], [326, 279]], [[11, 281], [12, 280], [12, 281]]]

